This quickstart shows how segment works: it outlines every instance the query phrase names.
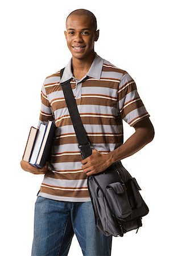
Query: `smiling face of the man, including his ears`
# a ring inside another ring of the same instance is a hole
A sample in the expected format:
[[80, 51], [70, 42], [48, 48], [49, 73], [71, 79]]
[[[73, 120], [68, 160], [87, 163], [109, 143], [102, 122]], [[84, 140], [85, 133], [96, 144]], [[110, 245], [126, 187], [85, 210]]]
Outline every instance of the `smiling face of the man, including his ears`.
[[88, 15], [71, 15], [64, 31], [67, 45], [72, 58], [86, 60], [94, 56], [94, 42], [97, 41], [99, 31], [94, 30], [92, 19]]

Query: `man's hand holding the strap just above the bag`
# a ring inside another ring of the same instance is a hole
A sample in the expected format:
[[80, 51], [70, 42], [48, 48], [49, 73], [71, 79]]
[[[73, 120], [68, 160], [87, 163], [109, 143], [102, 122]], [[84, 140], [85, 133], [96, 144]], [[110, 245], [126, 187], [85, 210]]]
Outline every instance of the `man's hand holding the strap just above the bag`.
[[81, 163], [82, 170], [90, 176], [105, 171], [111, 165], [111, 159], [109, 154], [101, 154], [99, 151], [93, 150], [92, 155], [82, 160]]

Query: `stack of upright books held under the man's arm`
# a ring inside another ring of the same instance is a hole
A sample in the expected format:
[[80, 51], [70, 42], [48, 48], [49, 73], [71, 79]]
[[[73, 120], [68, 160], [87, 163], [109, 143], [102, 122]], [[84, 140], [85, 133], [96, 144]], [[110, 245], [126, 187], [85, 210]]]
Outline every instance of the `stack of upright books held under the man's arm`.
[[56, 125], [53, 121], [48, 121], [47, 125], [40, 123], [37, 129], [32, 126], [24, 150], [23, 160], [35, 167], [42, 168], [49, 159], [55, 130]]

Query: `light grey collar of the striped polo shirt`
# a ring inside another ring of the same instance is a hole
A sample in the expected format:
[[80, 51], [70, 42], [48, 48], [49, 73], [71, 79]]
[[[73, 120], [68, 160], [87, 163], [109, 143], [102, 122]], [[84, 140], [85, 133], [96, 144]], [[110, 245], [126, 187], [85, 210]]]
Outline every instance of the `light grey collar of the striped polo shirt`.
[[[97, 54], [94, 57], [93, 63], [86, 74], [88, 77], [93, 77], [94, 79], [100, 79], [101, 73], [102, 73], [102, 67], [103, 67], [103, 59], [99, 57]], [[72, 73], [72, 59], [69, 60], [69, 63], [64, 69], [63, 76], [60, 80], [60, 82], [65, 82], [67, 80], [72, 79], [73, 73]]]

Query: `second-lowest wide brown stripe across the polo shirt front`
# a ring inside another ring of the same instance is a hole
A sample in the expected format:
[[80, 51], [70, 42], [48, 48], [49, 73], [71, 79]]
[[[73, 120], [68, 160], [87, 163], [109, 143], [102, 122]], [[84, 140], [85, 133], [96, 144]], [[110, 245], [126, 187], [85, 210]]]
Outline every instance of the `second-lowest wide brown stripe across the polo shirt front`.
[[[67, 171], [67, 170], [65, 170], [65, 171]], [[68, 171], [74, 172], [76, 170], [68, 170]], [[85, 179], [87, 179], [87, 176], [84, 172], [69, 173], [69, 174], [61, 173], [63, 171], [58, 171], [58, 172], [60, 172], [60, 173], [58, 174], [57, 172], [52, 172], [49, 170], [48, 172], [46, 172], [45, 176], [52, 177], [53, 179], [60, 179], [60, 180], [85, 180]]]

